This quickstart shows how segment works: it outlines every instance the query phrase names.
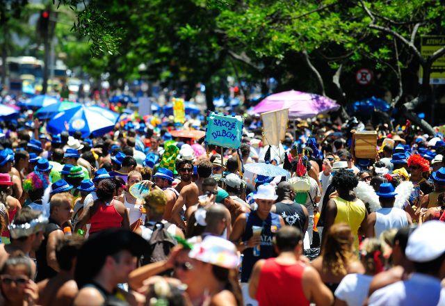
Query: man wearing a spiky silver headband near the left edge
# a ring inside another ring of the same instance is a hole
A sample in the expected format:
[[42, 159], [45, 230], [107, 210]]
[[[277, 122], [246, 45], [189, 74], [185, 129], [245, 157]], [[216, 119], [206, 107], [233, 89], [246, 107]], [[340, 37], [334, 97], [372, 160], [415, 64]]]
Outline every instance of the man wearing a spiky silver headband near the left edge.
[[[47, 222], [47, 218], [42, 216], [41, 211], [19, 210], [9, 227], [11, 243], [8, 245], [0, 244], [0, 266], [3, 266], [6, 259], [16, 250], [21, 250], [26, 256], [29, 256], [31, 251], [38, 250], [43, 240], [43, 230]], [[35, 275], [34, 261], [32, 261], [32, 268], [33, 275]]]

